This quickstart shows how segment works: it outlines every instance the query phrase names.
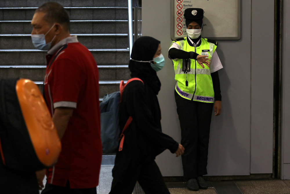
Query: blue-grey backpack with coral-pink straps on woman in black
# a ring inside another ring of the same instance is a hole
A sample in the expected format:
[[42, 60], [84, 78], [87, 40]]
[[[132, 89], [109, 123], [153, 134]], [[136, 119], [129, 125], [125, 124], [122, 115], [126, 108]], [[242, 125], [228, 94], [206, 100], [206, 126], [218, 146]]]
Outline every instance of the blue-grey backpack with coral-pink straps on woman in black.
[[[126, 85], [134, 80], [142, 81], [139, 78], [132, 78], [127, 81]], [[124, 131], [132, 121], [132, 117], [130, 116], [121, 133], [121, 129], [119, 127], [119, 104], [122, 99], [122, 92], [126, 85], [124, 85], [124, 81], [121, 81], [120, 91], [105, 95], [103, 101], [100, 103], [101, 139], [104, 154], [116, 153], [117, 150], [122, 151]], [[119, 145], [120, 139], [121, 142]]]

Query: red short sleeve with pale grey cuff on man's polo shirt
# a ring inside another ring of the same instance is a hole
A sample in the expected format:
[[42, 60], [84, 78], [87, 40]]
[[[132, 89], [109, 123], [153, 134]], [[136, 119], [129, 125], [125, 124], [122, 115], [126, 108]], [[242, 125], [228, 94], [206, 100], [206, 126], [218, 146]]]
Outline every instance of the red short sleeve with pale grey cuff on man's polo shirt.
[[80, 65], [70, 59], [57, 59], [53, 71], [51, 91], [54, 108], [77, 108], [77, 100], [84, 80]]

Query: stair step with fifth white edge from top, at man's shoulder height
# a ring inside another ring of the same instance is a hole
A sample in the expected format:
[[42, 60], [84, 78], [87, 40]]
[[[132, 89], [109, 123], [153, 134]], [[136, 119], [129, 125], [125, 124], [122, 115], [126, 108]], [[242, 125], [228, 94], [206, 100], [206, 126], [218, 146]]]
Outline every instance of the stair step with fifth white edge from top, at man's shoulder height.
[[[34, 81], [43, 81], [46, 65], [0, 65], [0, 77], [26, 78]], [[128, 65], [98, 65], [99, 80], [126, 80], [130, 79]]]

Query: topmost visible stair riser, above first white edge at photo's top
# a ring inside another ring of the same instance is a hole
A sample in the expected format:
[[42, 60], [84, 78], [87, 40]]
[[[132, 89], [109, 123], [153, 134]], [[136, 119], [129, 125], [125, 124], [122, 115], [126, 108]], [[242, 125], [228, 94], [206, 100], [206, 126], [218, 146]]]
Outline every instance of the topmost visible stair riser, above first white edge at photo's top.
[[[0, 7], [35, 7], [41, 6], [48, 0], [23, 0], [23, 1], [11, 1], [11, 0], [1, 0]], [[82, 6], [128, 6], [128, 1], [126, 0], [59, 0], [59, 2], [64, 7], [82, 7]]]

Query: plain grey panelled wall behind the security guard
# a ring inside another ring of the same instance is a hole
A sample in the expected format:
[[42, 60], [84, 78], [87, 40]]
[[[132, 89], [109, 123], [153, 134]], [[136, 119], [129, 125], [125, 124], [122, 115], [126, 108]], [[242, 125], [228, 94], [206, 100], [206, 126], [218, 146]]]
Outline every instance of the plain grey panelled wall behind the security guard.
[[[160, 40], [165, 58], [171, 45], [170, 10], [169, 0], [142, 2], [142, 35]], [[271, 0], [242, 0], [241, 39], [218, 41], [217, 52], [224, 66], [219, 70], [222, 114], [212, 116], [208, 175], [272, 171], [269, 163], [273, 151], [273, 31], [269, 29], [274, 26], [273, 10]], [[259, 18], [268, 21], [267, 25]], [[168, 58], [158, 76], [162, 83], [158, 95], [162, 130], [180, 142], [174, 70]], [[181, 158], [175, 158], [168, 150], [156, 161], [163, 176], [183, 175]]]

